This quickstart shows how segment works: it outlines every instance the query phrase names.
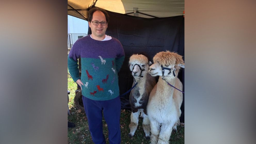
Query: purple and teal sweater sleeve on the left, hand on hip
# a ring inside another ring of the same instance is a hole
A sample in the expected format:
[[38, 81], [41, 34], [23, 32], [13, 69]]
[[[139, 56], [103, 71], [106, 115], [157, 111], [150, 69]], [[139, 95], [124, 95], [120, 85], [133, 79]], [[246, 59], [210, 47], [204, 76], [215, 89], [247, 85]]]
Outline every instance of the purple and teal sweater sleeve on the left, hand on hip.
[[78, 79], [81, 79], [79, 76], [78, 58], [80, 58], [79, 44], [74, 43], [68, 54], [68, 70], [74, 82], [76, 82]]

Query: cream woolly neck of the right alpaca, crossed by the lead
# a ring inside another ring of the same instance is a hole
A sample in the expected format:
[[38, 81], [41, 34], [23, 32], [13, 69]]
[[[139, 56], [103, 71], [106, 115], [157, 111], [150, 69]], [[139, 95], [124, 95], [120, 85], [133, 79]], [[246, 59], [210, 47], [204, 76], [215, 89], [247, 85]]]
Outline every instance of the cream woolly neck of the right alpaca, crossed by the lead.
[[[166, 81], [170, 83], [171, 85], [175, 85], [175, 80], [177, 77], [170, 78], [170, 77], [165, 77]], [[158, 79], [157, 82], [157, 93], [158, 97], [161, 97], [161, 99], [164, 99], [166, 101], [172, 102], [172, 97], [173, 97], [173, 91], [174, 88], [168, 85], [162, 78], [161, 76]]]

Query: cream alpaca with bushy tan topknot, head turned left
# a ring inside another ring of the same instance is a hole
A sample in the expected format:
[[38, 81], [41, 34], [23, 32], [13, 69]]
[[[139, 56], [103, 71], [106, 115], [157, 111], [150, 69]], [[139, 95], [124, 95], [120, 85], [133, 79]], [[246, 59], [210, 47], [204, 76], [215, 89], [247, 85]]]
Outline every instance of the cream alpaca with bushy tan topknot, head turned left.
[[169, 51], [157, 53], [153, 61], [149, 74], [162, 78], [159, 77], [149, 95], [147, 110], [151, 127], [150, 140], [151, 144], [168, 144], [172, 129], [177, 130], [176, 125], [180, 124], [182, 92], [166, 84], [166, 81], [182, 90], [182, 83], [177, 76], [180, 67], [185, 66], [181, 55]]

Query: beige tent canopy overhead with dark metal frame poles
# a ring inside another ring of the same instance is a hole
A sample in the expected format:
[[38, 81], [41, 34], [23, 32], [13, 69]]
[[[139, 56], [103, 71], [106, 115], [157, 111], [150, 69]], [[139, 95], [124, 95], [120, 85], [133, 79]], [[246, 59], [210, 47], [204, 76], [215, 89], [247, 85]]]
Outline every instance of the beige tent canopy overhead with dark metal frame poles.
[[68, 15], [87, 20], [92, 5], [143, 18], [173, 17], [183, 15], [184, 11], [184, 0], [68, 0]]

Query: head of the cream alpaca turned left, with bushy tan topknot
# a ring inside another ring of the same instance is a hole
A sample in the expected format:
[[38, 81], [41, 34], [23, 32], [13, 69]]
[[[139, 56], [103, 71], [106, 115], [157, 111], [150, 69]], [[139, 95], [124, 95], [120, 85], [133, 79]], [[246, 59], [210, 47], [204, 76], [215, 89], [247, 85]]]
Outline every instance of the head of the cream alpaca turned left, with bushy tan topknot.
[[[154, 64], [149, 67], [149, 74], [152, 76], [170, 76], [175, 77], [178, 75], [180, 67], [184, 68], [184, 61], [182, 59], [182, 56], [166, 51], [166, 52], [159, 52], [157, 53], [153, 58]], [[164, 75], [163, 75], [163, 69], [162, 67], [169, 68], [164, 69]]]

